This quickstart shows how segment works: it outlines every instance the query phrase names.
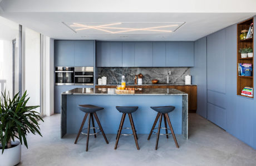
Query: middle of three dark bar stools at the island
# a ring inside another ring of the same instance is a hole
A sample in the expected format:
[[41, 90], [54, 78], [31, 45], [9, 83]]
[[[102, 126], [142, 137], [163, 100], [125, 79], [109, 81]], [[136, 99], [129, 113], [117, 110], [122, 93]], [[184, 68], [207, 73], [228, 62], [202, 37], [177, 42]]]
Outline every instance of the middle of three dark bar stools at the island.
[[[125, 116], [126, 114], [128, 114], [129, 116], [129, 119], [130, 119], [130, 123], [131, 123], [131, 129], [132, 129], [132, 135], [134, 135], [134, 140], [135, 140], [135, 143], [136, 143], [136, 147], [137, 149], [139, 150], [139, 144], [137, 142], [137, 134], [136, 134], [136, 130], [135, 130], [135, 127], [134, 127], [134, 120], [132, 120], [132, 116], [131, 116], [131, 113], [132, 112], [135, 112], [138, 107], [119, 107], [119, 106], [116, 106], [116, 109], [122, 113], [122, 118], [121, 118], [121, 122], [120, 122], [120, 125], [119, 125], [119, 129], [118, 129], [118, 132], [117, 132], [117, 136], [116, 136], [116, 144], [115, 144], [115, 150], [117, 148], [117, 144], [119, 142], [119, 138], [120, 138], [120, 135], [121, 135], [121, 131], [122, 131], [122, 126], [124, 125], [124, 121], [125, 121]], [[127, 127], [125, 128], [127, 129]], [[130, 129], [130, 128], [129, 128]], [[130, 135], [130, 134], [123, 134], [123, 135]]]

